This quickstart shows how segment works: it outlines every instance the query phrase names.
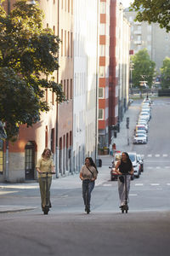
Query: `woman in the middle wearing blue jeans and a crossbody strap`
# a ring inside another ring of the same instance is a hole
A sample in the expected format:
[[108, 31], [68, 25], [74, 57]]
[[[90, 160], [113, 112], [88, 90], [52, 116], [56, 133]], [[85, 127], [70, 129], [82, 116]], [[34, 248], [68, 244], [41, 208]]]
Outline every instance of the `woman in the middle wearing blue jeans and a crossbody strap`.
[[[82, 166], [80, 171], [80, 178], [82, 179], [82, 198], [84, 201], [85, 211], [90, 212], [90, 200], [91, 193], [94, 189], [95, 180], [98, 176], [97, 167], [94, 164], [94, 160], [91, 157], [85, 159], [85, 165]], [[87, 194], [88, 191], [88, 194]], [[88, 197], [87, 197], [88, 196]], [[88, 198], [88, 204], [87, 204]]]

